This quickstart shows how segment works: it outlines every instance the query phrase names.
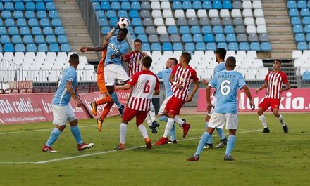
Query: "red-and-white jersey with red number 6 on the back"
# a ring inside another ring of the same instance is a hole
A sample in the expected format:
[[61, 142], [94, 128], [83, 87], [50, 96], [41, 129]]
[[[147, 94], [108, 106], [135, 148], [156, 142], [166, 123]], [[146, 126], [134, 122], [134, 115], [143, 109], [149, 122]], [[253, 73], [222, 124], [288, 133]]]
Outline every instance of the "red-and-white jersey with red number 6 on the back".
[[132, 86], [128, 107], [139, 111], [149, 111], [151, 98], [155, 90], [159, 90], [159, 79], [149, 70], [135, 73], [127, 84]]

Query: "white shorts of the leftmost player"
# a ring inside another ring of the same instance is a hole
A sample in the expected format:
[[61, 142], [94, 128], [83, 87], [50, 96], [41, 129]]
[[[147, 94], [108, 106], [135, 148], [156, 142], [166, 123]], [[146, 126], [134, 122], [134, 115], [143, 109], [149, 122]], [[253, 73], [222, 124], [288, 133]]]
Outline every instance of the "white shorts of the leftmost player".
[[70, 103], [66, 106], [51, 105], [53, 108], [53, 124], [64, 126], [67, 121], [76, 119]]

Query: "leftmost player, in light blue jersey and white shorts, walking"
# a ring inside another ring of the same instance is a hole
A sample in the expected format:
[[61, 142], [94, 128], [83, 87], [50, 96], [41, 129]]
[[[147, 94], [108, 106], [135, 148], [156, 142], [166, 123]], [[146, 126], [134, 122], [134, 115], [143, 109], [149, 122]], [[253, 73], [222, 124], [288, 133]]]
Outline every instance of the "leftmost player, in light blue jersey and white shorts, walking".
[[80, 129], [77, 126], [77, 119], [69, 104], [70, 98], [72, 97], [77, 107], [82, 107], [82, 102], [77, 98], [74, 91], [77, 82], [76, 69], [77, 65], [79, 65], [79, 56], [76, 53], [70, 55], [69, 63], [70, 66], [63, 69], [61, 73], [57, 91], [51, 102], [53, 107], [53, 124], [56, 127], [51, 131], [49, 140], [42, 147], [42, 152], [57, 152], [51, 148], [51, 145], [54, 144], [59, 135], [61, 135], [61, 132], [66, 128], [67, 121], [70, 123], [71, 133], [77, 142], [77, 150], [85, 150], [94, 146], [94, 143], [87, 144], [82, 140]]

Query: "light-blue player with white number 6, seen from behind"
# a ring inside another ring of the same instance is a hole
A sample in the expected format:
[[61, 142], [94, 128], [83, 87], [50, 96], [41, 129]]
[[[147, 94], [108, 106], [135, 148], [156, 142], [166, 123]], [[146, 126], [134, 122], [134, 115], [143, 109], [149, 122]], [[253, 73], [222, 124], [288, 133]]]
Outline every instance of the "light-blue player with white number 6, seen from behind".
[[216, 128], [223, 128], [226, 124], [226, 129], [229, 130], [229, 136], [227, 141], [227, 147], [225, 151], [224, 160], [232, 161], [233, 157], [230, 156], [230, 153], [233, 151], [235, 146], [235, 135], [238, 127], [238, 117], [237, 117], [237, 89], [244, 90], [244, 93], [249, 98], [249, 104], [252, 109], [255, 105], [252, 100], [252, 95], [245, 84], [243, 76], [240, 72], [234, 71], [236, 67], [236, 59], [232, 56], [228, 57], [225, 63], [226, 69], [218, 72], [214, 75], [211, 82], [206, 87], [206, 102], [207, 110], [211, 111], [211, 108], [214, 107], [211, 103], [210, 92], [211, 88], [216, 88], [216, 98], [217, 104], [214, 107], [214, 111], [211, 115], [211, 119], [208, 124], [206, 132], [200, 138], [197, 151], [193, 157], [187, 159], [187, 161], [198, 161], [199, 154], [202, 152], [202, 149], [206, 142], [211, 138], [213, 131]]

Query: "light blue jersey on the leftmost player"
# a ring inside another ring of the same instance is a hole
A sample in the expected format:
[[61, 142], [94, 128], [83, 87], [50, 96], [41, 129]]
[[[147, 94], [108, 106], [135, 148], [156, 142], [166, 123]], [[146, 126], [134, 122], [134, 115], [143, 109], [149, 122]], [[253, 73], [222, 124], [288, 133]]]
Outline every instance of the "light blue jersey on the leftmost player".
[[54, 95], [53, 100], [51, 101], [52, 104], [58, 105], [58, 106], [64, 106], [64, 105], [69, 104], [71, 95], [70, 93], [68, 93], [68, 90], [66, 88], [67, 81], [72, 82], [72, 86], [73, 86], [72, 88], [74, 90], [75, 84], [77, 82], [77, 75], [76, 75], [75, 68], [72, 66], [66, 67], [66, 69], [63, 69], [57, 91]]

